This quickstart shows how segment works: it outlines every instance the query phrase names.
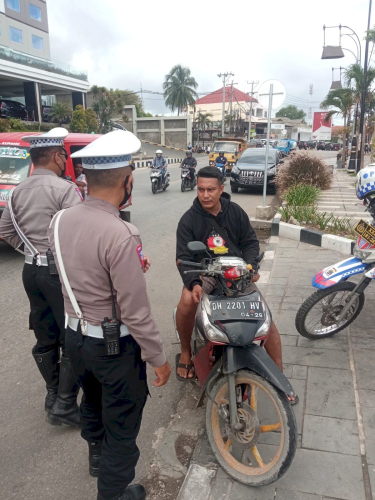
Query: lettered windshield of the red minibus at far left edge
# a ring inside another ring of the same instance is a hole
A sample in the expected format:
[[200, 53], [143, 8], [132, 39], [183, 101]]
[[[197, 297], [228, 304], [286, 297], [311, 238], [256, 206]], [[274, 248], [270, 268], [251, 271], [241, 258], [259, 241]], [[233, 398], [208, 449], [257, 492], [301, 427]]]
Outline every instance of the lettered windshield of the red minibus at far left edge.
[[28, 147], [0, 144], [0, 184], [19, 184], [27, 177], [30, 166]]

